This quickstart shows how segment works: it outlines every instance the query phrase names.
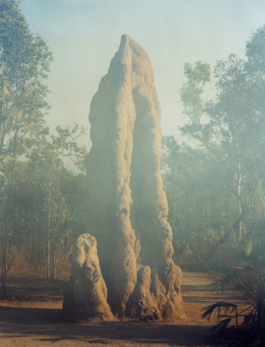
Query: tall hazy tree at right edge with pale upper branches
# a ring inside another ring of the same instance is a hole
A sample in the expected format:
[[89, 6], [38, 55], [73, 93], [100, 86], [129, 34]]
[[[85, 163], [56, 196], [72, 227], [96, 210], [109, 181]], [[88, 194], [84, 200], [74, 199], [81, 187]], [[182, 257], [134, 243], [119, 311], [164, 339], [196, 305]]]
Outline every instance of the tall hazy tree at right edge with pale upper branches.
[[[189, 103], [194, 105], [192, 109], [184, 97], [189, 90], [192, 94], [194, 79], [199, 78], [200, 85], [205, 83], [197, 67], [186, 72], [188, 83], [180, 90], [189, 118], [182, 132], [196, 139], [216, 164], [222, 163], [225, 168], [223, 187], [229, 189], [237, 201], [234, 230], [239, 241], [248, 231], [246, 216], [250, 208], [257, 209], [257, 205], [254, 207], [257, 201], [264, 220], [264, 37], [265, 27], [253, 34], [246, 44], [246, 61], [231, 54], [227, 60], [217, 62], [214, 101], [188, 97]], [[198, 104], [207, 121], [200, 121], [202, 112], [197, 112]], [[186, 105], [189, 105], [188, 112]]]

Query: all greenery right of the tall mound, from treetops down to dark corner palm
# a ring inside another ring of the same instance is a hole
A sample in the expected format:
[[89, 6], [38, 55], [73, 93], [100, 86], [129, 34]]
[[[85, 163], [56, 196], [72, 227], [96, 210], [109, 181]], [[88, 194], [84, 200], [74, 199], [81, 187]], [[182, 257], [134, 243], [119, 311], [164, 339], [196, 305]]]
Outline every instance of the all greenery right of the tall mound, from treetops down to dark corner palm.
[[[191, 207], [185, 214], [189, 223], [183, 232], [180, 213], [173, 217], [174, 237], [187, 237], [188, 252], [182, 253], [182, 261], [184, 258], [184, 262], [200, 264], [200, 269], [214, 269], [212, 289], [231, 295], [229, 302], [205, 307], [203, 317], [214, 316], [219, 332], [232, 329], [232, 344], [240, 346], [265, 344], [264, 52], [265, 26], [246, 43], [246, 60], [231, 54], [216, 63], [216, 98], [210, 101], [202, 98], [207, 80], [197, 71], [198, 64], [185, 65], [187, 83], [180, 96], [187, 124], [181, 130], [199, 146], [189, 149], [187, 155], [187, 146], [173, 146], [171, 139], [166, 146], [174, 153], [165, 151], [169, 210], [173, 206], [176, 210], [177, 204]], [[194, 92], [196, 83], [200, 85]], [[181, 153], [185, 153], [185, 166]], [[194, 181], [193, 171], [198, 180]], [[198, 202], [191, 205], [191, 198], [196, 201], [196, 196]], [[191, 219], [199, 205], [200, 214]], [[213, 223], [214, 212], [220, 217], [219, 223]], [[178, 248], [178, 243], [177, 252], [187, 250]]]

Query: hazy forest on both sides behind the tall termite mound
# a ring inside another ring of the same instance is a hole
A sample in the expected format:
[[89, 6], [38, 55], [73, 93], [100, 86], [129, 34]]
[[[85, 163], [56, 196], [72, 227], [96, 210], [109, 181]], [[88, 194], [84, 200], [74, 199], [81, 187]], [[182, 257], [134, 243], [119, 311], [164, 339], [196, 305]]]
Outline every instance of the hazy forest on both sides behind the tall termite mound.
[[[0, 1], [1, 290], [8, 276], [69, 277], [69, 254], [89, 231], [85, 129], [46, 125], [52, 53], [15, 0]], [[184, 66], [178, 92], [191, 144], [163, 137], [164, 189], [174, 257], [209, 270], [240, 246], [264, 251], [265, 27], [246, 37], [246, 58]], [[207, 88], [214, 87], [212, 99]], [[87, 135], [88, 136], [88, 135]], [[65, 164], [65, 158], [69, 161]], [[88, 173], [89, 174], [89, 173]]]

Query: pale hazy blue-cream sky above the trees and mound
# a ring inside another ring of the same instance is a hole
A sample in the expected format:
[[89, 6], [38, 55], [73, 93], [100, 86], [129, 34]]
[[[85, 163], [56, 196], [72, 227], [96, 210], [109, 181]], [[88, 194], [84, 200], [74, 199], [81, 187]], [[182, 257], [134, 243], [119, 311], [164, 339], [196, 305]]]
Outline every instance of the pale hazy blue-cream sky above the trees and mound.
[[49, 126], [88, 127], [92, 96], [127, 33], [148, 52], [162, 107], [162, 132], [183, 122], [183, 65], [236, 53], [265, 24], [264, 0], [22, 0], [33, 33], [53, 52]]

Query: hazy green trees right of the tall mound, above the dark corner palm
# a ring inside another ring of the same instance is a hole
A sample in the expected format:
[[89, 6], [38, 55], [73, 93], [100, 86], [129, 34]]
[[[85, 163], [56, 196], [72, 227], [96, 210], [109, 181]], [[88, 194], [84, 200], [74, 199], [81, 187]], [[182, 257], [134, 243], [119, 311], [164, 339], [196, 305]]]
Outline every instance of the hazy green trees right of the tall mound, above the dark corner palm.
[[185, 64], [180, 89], [196, 146], [163, 139], [164, 187], [176, 262], [210, 269], [265, 225], [265, 26], [246, 44], [246, 60], [216, 63], [216, 97], [205, 101], [210, 67]]

